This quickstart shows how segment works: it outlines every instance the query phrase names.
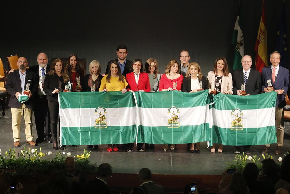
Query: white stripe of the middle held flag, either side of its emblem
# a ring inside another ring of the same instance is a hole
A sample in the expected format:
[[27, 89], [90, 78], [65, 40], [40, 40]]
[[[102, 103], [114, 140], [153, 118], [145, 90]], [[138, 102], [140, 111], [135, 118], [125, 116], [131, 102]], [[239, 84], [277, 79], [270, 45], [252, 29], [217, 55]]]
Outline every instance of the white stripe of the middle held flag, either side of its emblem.
[[[193, 126], [209, 123], [209, 107], [197, 106], [193, 108], [179, 108], [180, 126]], [[143, 126], [167, 126], [168, 108], [139, 108], [140, 124]], [[169, 113], [170, 115], [172, 113]], [[175, 113], [177, 114], [177, 113]]]

